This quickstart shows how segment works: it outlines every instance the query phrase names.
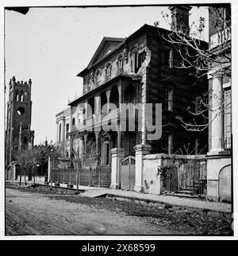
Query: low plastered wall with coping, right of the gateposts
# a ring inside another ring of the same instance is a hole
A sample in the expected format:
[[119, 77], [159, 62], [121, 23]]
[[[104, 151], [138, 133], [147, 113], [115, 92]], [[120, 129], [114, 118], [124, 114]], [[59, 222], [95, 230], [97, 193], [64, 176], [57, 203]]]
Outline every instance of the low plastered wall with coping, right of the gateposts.
[[[205, 164], [205, 155], [168, 155], [165, 153], [148, 154], [144, 156], [144, 192], [160, 195], [165, 190], [161, 169], [176, 166], [178, 173], [182, 172], [188, 161], [198, 160]], [[204, 177], [206, 178], [206, 177]]]

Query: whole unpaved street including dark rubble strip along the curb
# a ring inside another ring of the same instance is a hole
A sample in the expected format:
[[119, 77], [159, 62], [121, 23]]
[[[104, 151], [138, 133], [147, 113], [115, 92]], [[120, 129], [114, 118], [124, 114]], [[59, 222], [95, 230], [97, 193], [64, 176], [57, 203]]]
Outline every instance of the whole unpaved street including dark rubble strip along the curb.
[[[152, 211], [153, 210], [153, 211]], [[6, 188], [6, 235], [230, 235], [221, 216]]]

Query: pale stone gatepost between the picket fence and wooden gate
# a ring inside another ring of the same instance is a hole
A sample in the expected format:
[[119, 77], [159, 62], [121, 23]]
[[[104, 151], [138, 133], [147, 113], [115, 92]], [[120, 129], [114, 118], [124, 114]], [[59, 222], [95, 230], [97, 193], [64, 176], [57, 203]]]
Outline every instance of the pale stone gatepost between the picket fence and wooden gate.
[[110, 188], [117, 189], [121, 187], [121, 159], [124, 158], [124, 149], [111, 149], [112, 157], [112, 175]]

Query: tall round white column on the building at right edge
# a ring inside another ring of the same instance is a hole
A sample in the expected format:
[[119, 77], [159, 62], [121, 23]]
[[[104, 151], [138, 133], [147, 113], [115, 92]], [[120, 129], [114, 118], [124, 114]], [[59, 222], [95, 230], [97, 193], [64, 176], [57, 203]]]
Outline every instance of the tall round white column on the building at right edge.
[[220, 139], [224, 136], [224, 117], [222, 110], [223, 88], [222, 77], [220, 74], [213, 75], [213, 88], [212, 88], [212, 113], [211, 113], [211, 126], [212, 126], [212, 142], [210, 152], [218, 153], [222, 151], [222, 144]]

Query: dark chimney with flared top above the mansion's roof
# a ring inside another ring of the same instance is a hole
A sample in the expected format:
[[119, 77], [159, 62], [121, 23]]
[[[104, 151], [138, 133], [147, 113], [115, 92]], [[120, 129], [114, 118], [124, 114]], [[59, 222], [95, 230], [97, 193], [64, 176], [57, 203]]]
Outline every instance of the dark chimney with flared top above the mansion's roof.
[[169, 10], [171, 10], [171, 30], [189, 35], [189, 13], [191, 9], [190, 6], [169, 7]]

